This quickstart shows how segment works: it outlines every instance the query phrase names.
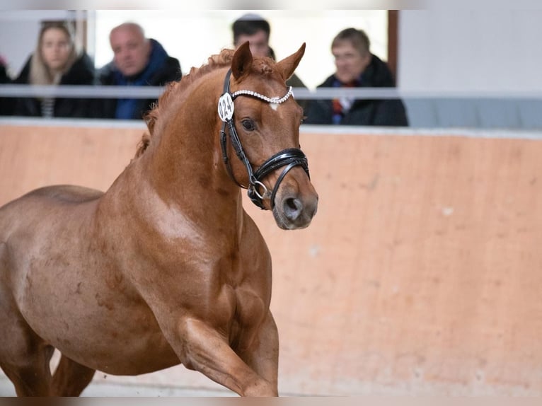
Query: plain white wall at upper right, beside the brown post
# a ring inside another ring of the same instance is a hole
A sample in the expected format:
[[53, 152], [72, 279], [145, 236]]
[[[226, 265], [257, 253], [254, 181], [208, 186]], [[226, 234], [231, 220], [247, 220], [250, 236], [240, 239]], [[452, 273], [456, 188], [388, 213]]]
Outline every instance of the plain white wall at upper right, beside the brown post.
[[542, 91], [542, 10], [403, 10], [403, 90]]

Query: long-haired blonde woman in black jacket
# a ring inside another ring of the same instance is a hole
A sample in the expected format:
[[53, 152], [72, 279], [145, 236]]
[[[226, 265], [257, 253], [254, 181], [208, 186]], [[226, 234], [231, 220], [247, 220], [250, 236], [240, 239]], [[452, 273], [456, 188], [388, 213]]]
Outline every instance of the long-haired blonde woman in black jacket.
[[[33, 85], [91, 85], [94, 66], [77, 52], [71, 26], [42, 23], [38, 45], [14, 83]], [[13, 115], [41, 117], [92, 117], [93, 102], [81, 98], [18, 98]]]

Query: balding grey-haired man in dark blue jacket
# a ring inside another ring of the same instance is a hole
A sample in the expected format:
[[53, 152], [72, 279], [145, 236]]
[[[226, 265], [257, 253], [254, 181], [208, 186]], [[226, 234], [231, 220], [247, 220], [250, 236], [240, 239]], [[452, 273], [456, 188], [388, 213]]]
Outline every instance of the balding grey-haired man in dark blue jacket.
[[[180, 80], [178, 59], [170, 57], [160, 42], [145, 37], [141, 25], [122, 23], [109, 35], [113, 61], [98, 73], [100, 84], [106, 86], [164, 86]], [[155, 99], [117, 98], [103, 100], [104, 118], [142, 120]]]

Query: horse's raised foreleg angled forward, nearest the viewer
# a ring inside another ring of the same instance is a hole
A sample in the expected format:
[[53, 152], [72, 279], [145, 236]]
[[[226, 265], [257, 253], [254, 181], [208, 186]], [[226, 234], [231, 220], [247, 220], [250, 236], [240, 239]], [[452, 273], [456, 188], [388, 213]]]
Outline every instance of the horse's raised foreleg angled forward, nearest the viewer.
[[231, 349], [225, 337], [203, 321], [183, 320], [173, 341], [170, 344], [185, 366], [200, 371], [238, 395], [278, 395], [276, 378], [270, 382], [260, 376]]

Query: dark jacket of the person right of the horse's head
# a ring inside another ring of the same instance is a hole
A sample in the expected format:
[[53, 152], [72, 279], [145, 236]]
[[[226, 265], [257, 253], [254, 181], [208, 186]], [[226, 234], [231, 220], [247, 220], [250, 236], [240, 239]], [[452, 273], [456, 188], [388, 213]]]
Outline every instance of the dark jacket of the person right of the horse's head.
[[[318, 88], [336, 87], [337, 83], [335, 75], [331, 75]], [[395, 87], [395, 81], [388, 65], [372, 55], [371, 63], [363, 71], [359, 87]], [[310, 100], [305, 115], [306, 124], [333, 124], [333, 101]], [[408, 119], [405, 106], [399, 99], [357, 99], [338, 124], [407, 126]]]

